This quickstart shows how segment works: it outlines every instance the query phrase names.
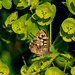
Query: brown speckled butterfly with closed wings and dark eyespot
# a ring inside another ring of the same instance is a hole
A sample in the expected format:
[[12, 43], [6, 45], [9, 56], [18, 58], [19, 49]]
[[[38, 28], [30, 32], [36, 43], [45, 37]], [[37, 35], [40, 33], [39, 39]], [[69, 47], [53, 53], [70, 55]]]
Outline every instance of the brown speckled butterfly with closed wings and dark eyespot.
[[29, 49], [32, 53], [40, 55], [49, 55], [49, 38], [45, 30], [40, 30], [35, 38], [31, 40]]

